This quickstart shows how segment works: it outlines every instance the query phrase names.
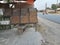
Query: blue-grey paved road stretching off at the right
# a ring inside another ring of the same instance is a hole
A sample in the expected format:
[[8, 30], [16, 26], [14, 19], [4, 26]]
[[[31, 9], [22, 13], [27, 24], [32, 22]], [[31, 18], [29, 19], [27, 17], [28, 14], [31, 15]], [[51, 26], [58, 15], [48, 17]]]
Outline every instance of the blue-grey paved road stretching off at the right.
[[60, 15], [38, 13], [38, 16], [60, 24]]

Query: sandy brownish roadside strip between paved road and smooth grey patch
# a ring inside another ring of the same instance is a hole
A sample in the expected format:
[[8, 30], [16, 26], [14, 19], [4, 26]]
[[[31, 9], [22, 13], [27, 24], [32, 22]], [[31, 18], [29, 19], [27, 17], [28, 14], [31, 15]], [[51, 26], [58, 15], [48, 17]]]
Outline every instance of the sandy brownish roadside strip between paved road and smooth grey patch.
[[45, 45], [60, 45], [60, 24], [38, 17], [37, 30], [45, 39]]

